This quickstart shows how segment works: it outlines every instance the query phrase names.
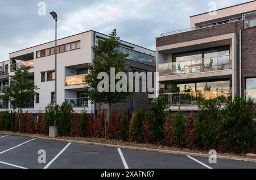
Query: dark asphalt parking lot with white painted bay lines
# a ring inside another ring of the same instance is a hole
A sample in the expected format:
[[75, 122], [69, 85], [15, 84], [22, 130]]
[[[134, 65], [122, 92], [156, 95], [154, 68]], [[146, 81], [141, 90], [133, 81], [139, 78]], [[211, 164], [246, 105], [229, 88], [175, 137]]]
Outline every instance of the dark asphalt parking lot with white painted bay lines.
[[[46, 152], [46, 162], [39, 150]], [[0, 135], [0, 169], [255, 169], [256, 163]]]

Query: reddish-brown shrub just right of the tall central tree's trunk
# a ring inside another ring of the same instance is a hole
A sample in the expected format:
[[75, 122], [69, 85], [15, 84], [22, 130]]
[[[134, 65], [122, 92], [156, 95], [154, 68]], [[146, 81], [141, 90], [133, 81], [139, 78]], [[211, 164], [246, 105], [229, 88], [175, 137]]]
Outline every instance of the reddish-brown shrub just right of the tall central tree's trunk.
[[119, 138], [121, 118], [122, 118], [122, 113], [119, 113], [117, 115], [116, 112], [112, 112], [110, 119], [109, 119], [109, 124], [108, 124], [108, 131], [107, 131], [108, 139], [118, 139]]

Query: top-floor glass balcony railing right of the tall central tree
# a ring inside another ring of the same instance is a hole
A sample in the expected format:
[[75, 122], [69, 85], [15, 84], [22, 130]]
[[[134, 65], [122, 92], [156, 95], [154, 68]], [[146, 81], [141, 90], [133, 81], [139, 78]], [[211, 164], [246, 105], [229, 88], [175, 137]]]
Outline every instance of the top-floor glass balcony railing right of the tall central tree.
[[118, 52], [128, 54], [129, 56], [126, 57], [127, 60], [142, 62], [150, 65], [155, 65], [155, 57], [152, 55], [146, 55], [144, 53], [140, 53], [137, 51], [133, 51], [131, 49], [126, 49], [123, 47], [118, 48]]

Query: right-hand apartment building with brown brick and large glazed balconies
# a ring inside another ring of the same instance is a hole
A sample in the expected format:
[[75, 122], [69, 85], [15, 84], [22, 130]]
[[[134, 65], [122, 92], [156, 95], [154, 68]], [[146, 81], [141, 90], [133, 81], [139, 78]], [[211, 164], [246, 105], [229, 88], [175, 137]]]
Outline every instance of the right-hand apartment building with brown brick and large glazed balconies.
[[190, 20], [191, 27], [156, 38], [157, 95], [168, 98], [171, 111], [236, 94], [256, 103], [256, 1]]

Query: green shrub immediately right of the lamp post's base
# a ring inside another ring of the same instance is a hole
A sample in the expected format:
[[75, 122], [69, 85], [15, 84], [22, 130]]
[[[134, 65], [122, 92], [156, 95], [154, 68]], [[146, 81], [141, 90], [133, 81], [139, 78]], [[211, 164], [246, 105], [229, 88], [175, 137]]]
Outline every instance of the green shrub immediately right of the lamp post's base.
[[68, 136], [71, 129], [71, 119], [73, 117], [73, 106], [64, 102], [57, 113], [56, 127], [60, 136]]

